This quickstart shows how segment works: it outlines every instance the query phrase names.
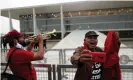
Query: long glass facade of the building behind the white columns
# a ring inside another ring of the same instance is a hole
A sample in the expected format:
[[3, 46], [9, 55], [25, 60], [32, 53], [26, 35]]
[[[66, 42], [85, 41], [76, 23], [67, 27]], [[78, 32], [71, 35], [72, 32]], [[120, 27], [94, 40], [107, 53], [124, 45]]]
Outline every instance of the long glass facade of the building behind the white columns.
[[[133, 8], [86, 10], [63, 12], [67, 32], [76, 29], [130, 29], [133, 28]], [[33, 32], [33, 15], [20, 15], [21, 32]], [[36, 14], [37, 27], [41, 32], [56, 29], [61, 32], [61, 18], [58, 13]]]

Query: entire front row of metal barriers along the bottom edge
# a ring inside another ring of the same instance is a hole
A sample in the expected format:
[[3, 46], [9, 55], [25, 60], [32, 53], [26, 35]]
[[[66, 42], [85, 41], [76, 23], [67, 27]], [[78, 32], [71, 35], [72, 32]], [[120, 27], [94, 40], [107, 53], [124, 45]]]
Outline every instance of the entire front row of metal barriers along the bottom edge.
[[[37, 72], [37, 80], [74, 80], [76, 66], [33, 64]], [[6, 63], [1, 63], [1, 71]], [[122, 80], [133, 80], [133, 65], [121, 65]], [[12, 73], [8, 68], [7, 72]]]

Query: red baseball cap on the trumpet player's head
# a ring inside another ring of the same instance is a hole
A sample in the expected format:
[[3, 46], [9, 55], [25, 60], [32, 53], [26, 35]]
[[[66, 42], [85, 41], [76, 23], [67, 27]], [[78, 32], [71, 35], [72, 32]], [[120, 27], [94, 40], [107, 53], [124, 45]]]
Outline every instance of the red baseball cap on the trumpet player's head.
[[22, 33], [18, 32], [17, 30], [13, 29], [12, 31], [8, 32], [4, 38], [9, 41], [9, 40], [13, 40], [14, 38], [19, 38], [24, 36]]

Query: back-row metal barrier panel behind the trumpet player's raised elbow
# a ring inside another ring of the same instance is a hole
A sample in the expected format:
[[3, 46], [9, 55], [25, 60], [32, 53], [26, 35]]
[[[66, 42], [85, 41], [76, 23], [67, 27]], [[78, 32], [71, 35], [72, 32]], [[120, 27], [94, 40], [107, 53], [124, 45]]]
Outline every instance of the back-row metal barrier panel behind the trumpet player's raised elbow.
[[[0, 49], [1, 63], [6, 62], [6, 53], [9, 49]], [[63, 64], [62, 49], [45, 49], [46, 54], [44, 60], [34, 61], [35, 64]], [[38, 49], [33, 49], [33, 52], [37, 52]]]

